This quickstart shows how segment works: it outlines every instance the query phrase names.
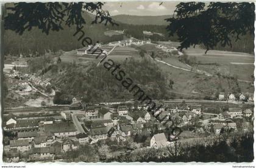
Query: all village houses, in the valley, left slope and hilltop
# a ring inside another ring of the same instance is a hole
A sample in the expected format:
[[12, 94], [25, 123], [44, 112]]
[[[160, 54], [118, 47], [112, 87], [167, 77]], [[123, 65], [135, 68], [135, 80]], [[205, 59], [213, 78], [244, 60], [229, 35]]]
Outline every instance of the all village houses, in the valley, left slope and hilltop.
[[[93, 47], [101, 47], [109, 54], [113, 51], [109, 46], [115, 48], [131, 44], [155, 45], [171, 53], [172, 57], [182, 55], [175, 47], [168, 48], [135, 38]], [[97, 55], [90, 53], [93, 51], [91, 47], [77, 49], [77, 55]], [[51, 100], [59, 90], [52, 86], [50, 79], [21, 74], [15, 71], [17, 68], [14, 66], [5, 72], [18, 81], [15, 84], [16, 94], [38, 93]], [[252, 93], [220, 92], [216, 100], [170, 99], [155, 102], [160, 108], [154, 111], [154, 115], [148, 111], [148, 104], [141, 104], [135, 99], [83, 103], [73, 97], [71, 105], [46, 104], [43, 101], [35, 107], [7, 108], [3, 118], [4, 159], [10, 162], [65, 161], [67, 156], [64, 153], [76, 152], [83, 145], [96, 147], [99, 144], [116, 145], [117, 150], [113, 153], [123, 155], [133, 150], [172, 147], [177, 141], [189, 144], [205, 142], [205, 139], [210, 141], [225, 133], [253, 129]], [[168, 125], [159, 120], [173, 122], [180, 128], [179, 136], [168, 134]], [[112, 156], [111, 152], [104, 155]]]

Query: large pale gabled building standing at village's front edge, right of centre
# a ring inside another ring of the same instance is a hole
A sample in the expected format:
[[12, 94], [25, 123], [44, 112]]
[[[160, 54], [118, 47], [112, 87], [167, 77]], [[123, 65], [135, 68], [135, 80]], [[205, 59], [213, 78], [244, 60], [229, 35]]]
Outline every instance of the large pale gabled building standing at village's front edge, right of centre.
[[165, 133], [158, 133], [151, 138], [150, 147], [159, 149], [161, 147], [166, 147], [170, 143], [171, 142], [167, 141]]

